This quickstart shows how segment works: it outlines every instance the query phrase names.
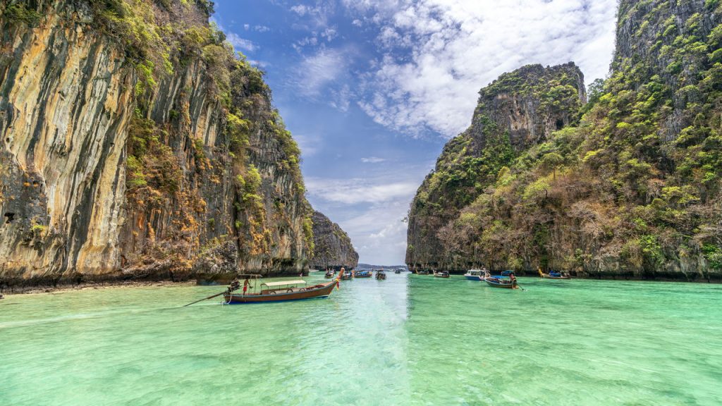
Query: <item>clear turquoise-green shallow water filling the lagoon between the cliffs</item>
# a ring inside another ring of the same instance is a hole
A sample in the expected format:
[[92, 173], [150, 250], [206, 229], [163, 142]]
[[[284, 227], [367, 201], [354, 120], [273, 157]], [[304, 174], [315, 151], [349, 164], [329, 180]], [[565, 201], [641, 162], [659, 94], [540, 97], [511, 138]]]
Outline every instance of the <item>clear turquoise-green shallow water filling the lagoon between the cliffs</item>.
[[0, 405], [722, 405], [721, 285], [520, 282], [391, 273], [187, 308], [222, 289], [14, 295]]

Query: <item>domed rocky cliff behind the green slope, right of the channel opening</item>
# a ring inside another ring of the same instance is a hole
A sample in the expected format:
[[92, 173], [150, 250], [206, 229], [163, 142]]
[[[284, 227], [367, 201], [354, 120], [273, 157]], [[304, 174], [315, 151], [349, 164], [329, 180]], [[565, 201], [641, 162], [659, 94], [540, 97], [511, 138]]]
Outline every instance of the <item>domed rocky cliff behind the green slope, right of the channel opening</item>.
[[419, 187], [409, 212], [409, 267], [464, 269], [439, 230], [496, 180], [499, 170], [575, 118], [586, 101], [577, 66], [524, 66], [479, 92], [469, 129], [445, 145], [435, 170]]

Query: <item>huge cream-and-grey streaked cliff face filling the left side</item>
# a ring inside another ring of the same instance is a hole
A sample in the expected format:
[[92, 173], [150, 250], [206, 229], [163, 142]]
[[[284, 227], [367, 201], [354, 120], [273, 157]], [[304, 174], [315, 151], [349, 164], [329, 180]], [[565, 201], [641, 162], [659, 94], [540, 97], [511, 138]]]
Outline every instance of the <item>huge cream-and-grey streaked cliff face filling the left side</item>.
[[0, 282], [308, 269], [299, 150], [206, 1], [0, 4]]

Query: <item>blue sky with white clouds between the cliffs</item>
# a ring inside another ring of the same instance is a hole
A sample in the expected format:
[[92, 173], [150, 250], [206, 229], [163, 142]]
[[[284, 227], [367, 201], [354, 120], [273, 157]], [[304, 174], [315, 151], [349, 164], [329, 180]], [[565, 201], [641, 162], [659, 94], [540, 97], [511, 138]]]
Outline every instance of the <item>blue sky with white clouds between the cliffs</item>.
[[414, 194], [471, 123], [479, 90], [526, 64], [604, 78], [617, 0], [216, 0], [265, 72], [313, 207], [360, 262], [403, 264]]

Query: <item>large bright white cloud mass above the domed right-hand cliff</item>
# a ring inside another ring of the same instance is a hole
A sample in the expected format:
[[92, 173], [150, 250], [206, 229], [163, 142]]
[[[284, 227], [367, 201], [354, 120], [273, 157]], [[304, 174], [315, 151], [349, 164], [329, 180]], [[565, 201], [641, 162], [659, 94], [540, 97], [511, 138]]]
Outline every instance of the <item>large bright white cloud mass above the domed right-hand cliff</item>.
[[343, 3], [378, 23], [386, 55], [362, 78], [360, 107], [379, 124], [412, 134], [463, 131], [479, 89], [525, 64], [575, 61], [587, 82], [604, 77], [614, 48], [616, 0]]

